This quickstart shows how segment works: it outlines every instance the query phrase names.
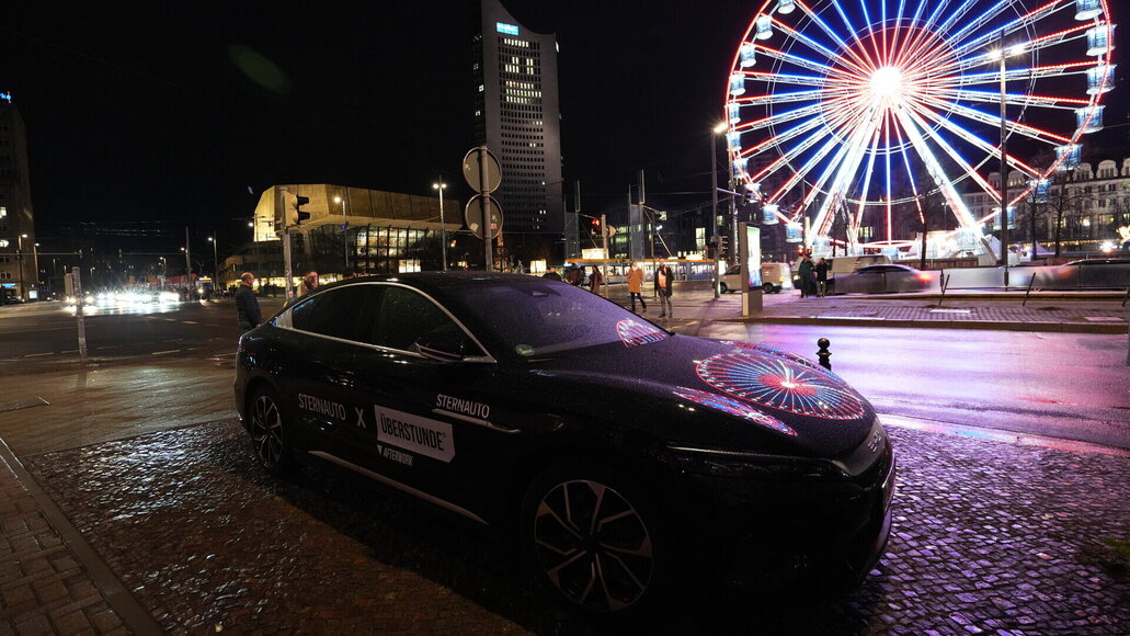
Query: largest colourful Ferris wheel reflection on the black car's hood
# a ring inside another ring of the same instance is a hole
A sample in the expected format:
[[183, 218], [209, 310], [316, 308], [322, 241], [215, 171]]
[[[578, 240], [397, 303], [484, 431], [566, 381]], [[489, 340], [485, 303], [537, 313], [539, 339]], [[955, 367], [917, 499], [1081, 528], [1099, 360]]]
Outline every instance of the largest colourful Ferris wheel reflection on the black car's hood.
[[720, 354], [698, 363], [696, 372], [714, 389], [771, 409], [828, 419], [857, 419], [867, 412], [840, 378], [785, 358]]

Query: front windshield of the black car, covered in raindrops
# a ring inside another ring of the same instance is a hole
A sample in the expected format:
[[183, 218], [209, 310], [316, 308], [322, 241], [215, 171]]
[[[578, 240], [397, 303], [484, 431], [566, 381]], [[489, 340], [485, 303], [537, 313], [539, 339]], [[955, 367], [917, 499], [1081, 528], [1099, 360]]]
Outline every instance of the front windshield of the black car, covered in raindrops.
[[609, 342], [633, 347], [669, 337], [618, 305], [551, 280], [458, 286], [447, 291], [520, 356]]

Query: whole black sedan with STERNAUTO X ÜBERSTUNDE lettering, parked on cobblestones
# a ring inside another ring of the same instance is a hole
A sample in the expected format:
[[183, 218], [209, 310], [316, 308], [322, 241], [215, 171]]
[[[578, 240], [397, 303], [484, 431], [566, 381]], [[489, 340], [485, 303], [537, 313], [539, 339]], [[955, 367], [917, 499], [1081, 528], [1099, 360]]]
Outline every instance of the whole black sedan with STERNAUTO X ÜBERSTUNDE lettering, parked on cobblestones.
[[689, 567], [748, 586], [858, 580], [889, 534], [892, 446], [841, 378], [571, 285], [342, 281], [245, 333], [236, 368], [268, 471], [329, 462], [513, 531], [589, 612], [638, 611]]

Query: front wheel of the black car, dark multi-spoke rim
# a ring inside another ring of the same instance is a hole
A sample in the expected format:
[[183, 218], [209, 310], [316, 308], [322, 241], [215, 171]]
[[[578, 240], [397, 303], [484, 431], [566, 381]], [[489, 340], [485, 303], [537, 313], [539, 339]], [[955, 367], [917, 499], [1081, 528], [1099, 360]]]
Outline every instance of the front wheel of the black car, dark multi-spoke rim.
[[521, 508], [522, 543], [542, 584], [586, 616], [628, 619], [668, 586], [661, 508], [621, 471], [583, 460], [541, 472]]

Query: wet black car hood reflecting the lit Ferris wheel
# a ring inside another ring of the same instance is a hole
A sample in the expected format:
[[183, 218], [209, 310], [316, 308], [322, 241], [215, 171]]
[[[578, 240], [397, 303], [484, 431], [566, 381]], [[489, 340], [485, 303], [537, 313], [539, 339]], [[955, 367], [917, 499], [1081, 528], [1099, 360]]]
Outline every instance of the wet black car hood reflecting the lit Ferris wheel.
[[531, 363], [572, 408], [669, 442], [829, 458], [859, 446], [875, 421], [837, 375], [763, 345], [672, 336]]

